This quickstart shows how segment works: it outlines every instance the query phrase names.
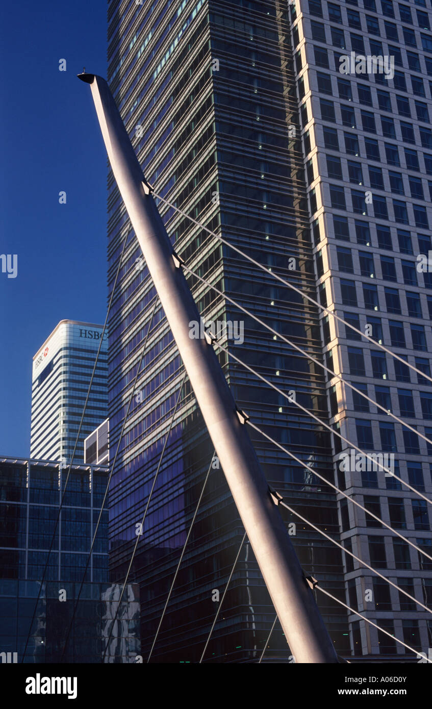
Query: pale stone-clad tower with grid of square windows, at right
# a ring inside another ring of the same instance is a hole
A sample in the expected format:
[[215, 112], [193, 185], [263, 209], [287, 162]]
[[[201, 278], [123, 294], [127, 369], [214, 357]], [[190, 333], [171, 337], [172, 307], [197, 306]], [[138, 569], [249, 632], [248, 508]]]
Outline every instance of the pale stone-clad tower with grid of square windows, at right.
[[[293, 18], [321, 302], [430, 375], [430, 0], [301, 0]], [[354, 57], [349, 73], [340, 72], [341, 55]], [[371, 62], [366, 72], [360, 55]], [[382, 60], [375, 70], [372, 57]], [[321, 316], [321, 322], [324, 353], [336, 373], [384, 408], [333, 378], [328, 384], [332, 424], [362, 450], [392, 454], [393, 471], [430, 497], [432, 447], [387, 411], [431, 439], [431, 381], [333, 318]], [[340, 468], [340, 445], [335, 467]], [[342, 489], [431, 554], [428, 503], [378, 467], [361, 467], [339, 469]], [[430, 607], [431, 562], [346, 500], [338, 504], [344, 545]], [[345, 579], [352, 608], [427, 654], [429, 613], [348, 557]], [[356, 656], [403, 660], [411, 655], [354, 614], [349, 621]]]

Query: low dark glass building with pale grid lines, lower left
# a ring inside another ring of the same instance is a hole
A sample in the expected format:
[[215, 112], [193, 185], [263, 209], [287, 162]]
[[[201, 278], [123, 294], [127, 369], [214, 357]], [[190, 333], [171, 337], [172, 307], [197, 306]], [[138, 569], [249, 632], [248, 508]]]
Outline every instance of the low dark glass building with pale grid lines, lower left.
[[[72, 466], [44, 578], [67, 471], [61, 464], [0, 458], [0, 653], [6, 657], [17, 653], [21, 662], [40, 592], [25, 661], [60, 661], [84, 580], [65, 661], [101, 661], [121, 592], [108, 582], [106, 510], [85, 579], [84, 571], [107, 474], [106, 467]], [[138, 586], [128, 584], [122, 606], [106, 661], [134, 661], [139, 652]]]

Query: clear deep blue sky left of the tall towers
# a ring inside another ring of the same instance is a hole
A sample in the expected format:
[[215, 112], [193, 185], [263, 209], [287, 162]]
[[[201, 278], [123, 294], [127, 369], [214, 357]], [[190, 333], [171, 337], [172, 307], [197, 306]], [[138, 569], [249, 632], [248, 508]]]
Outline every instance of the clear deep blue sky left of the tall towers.
[[106, 315], [106, 152], [77, 79], [106, 76], [106, 2], [3, 4], [0, 58], [0, 254], [18, 255], [0, 272], [0, 456], [24, 457], [33, 354], [59, 320]]

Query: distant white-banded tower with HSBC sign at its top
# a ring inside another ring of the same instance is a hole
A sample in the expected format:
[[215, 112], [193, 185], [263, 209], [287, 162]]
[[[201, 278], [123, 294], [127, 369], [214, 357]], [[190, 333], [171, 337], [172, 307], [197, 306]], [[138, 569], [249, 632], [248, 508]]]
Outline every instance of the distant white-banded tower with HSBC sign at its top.
[[[71, 462], [101, 335], [101, 325], [61, 320], [33, 357], [31, 457]], [[74, 463], [84, 462], [84, 438], [106, 418], [106, 350], [105, 333]]]

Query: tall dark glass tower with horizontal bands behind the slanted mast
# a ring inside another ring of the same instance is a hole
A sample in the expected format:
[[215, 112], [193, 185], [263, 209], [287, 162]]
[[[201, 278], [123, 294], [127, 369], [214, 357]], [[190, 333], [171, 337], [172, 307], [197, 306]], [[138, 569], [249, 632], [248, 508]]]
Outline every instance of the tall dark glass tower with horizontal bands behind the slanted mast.
[[[111, 90], [155, 191], [249, 255], [316, 297], [304, 156], [287, 6], [226, 2], [109, 4]], [[304, 115], [302, 114], [304, 120]], [[121, 581], [138, 542], [131, 579], [140, 583], [143, 657], [150, 651], [213, 447], [193, 393], [182, 387], [143, 530], [145, 503], [182, 382], [182, 363], [163, 314], [150, 325], [143, 368], [131, 391], [155, 291], [109, 174], [109, 290], [128, 239], [109, 320], [109, 420], [116, 448], [133, 394], [110, 490], [110, 571]], [[159, 204], [175, 250], [189, 267], [277, 332], [321, 359], [319, 312], [214, 236]], [[317, 364], [189, 277], [206, 320], [233, 324], [221, 342], [297, 401], [328, 419], [326, 380]], [[216, 350], [217, 351], [217, 350]], [[328, 432], [222, 353], [240, 408], [316, 471], [333, 479]], [[338, 538], [336, 496], [302, 464], [253, 436], [269, 484]], [[292, 537], [306, 573], [343, 594], [340, 552], [299, 523]], [[153, 651], [154, 661], [198, 661], [236, 558], [243, 526], [218, 461], [194, 525]], [[216, 591], [218, 593], [216, 593]], [[345, 610], [321, 610], [340, 654], [350, 652]], [[275, 618], [248, 542], [216, 624], [207, 661], [257, 661]], [[280, 626], [265, 660], [289, 659]]]

